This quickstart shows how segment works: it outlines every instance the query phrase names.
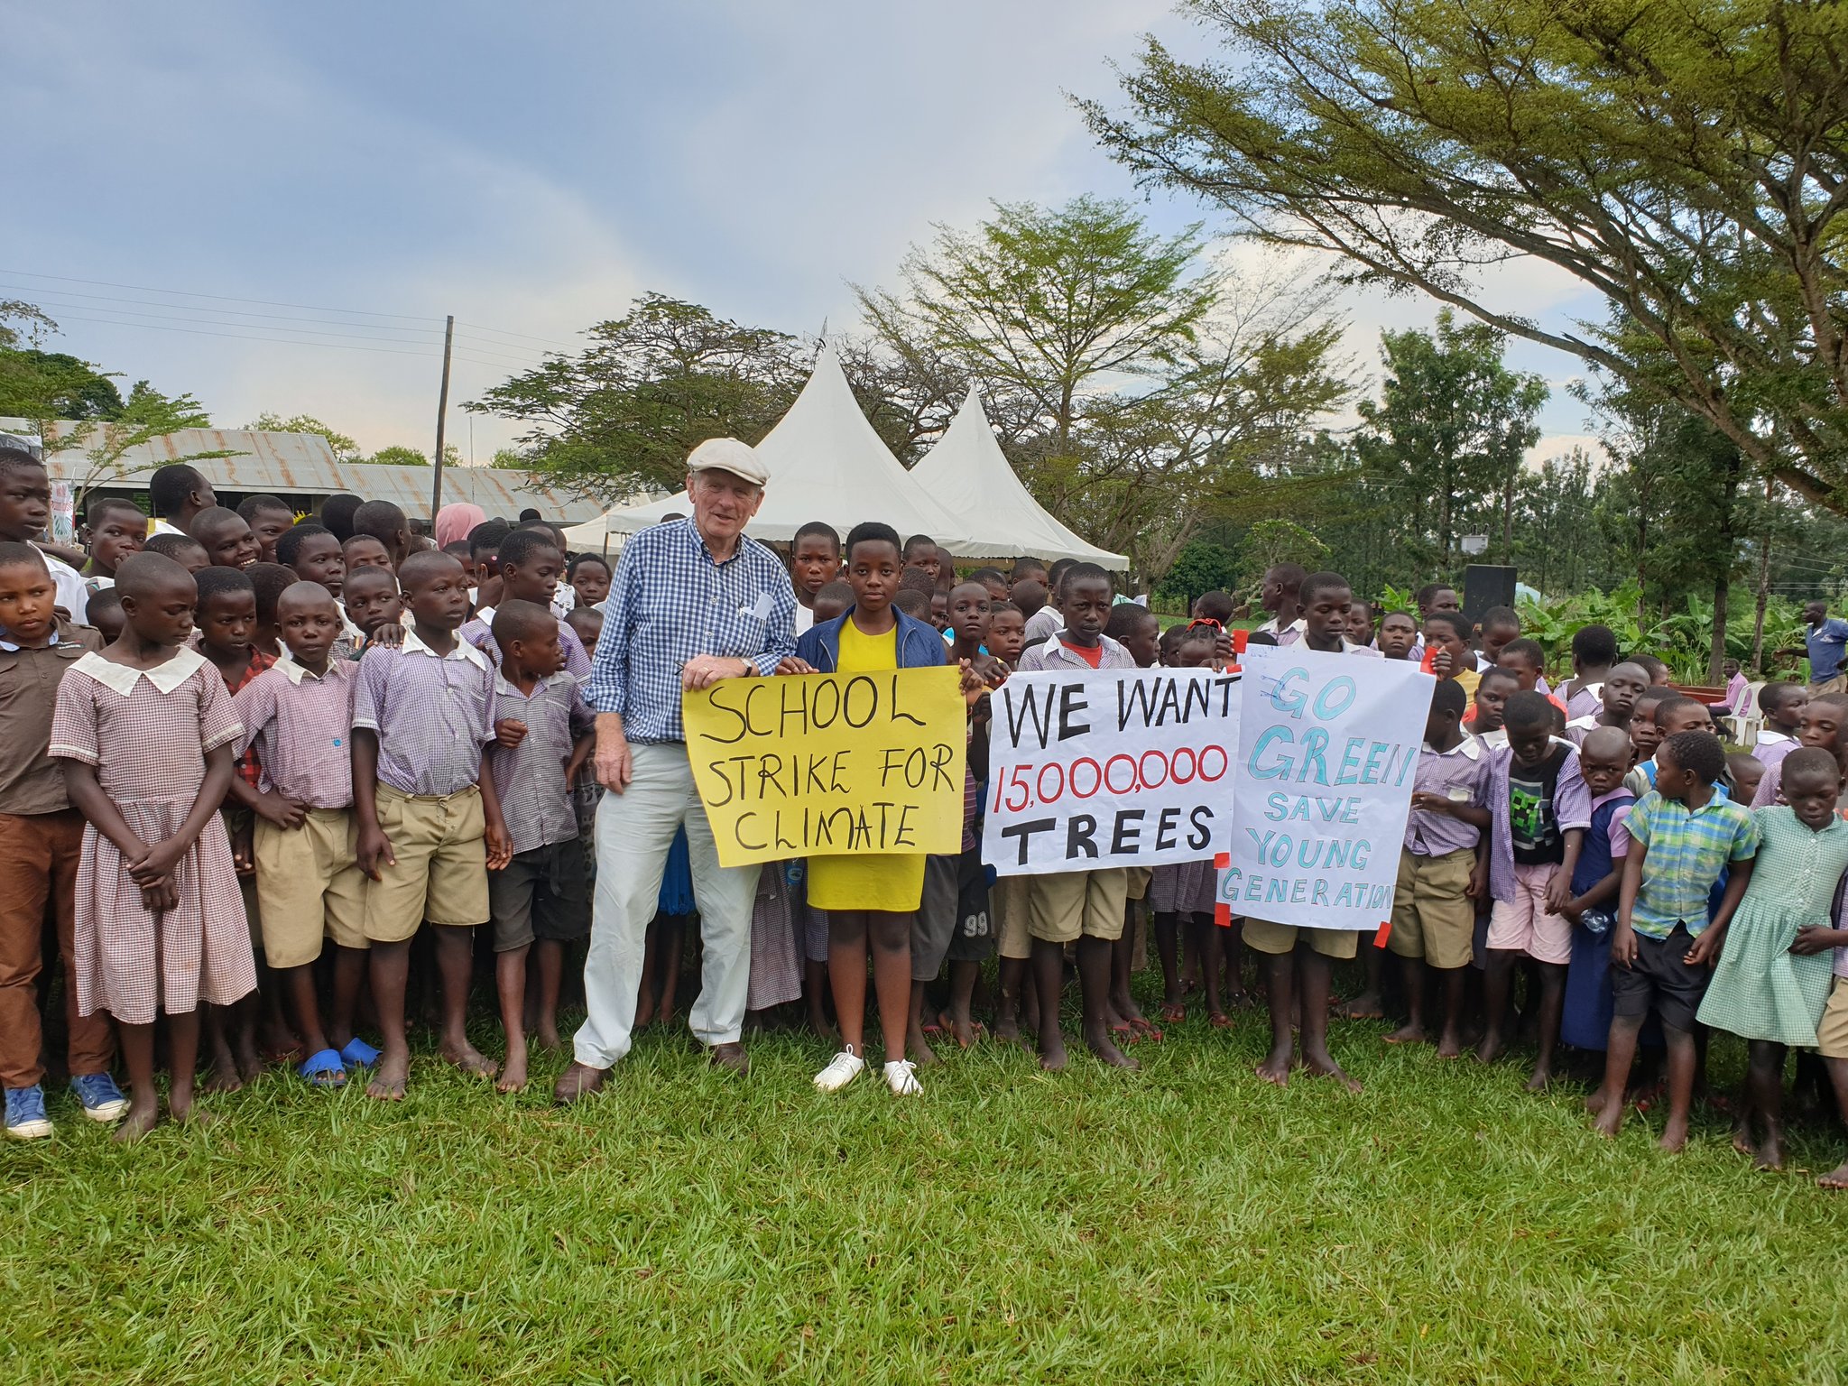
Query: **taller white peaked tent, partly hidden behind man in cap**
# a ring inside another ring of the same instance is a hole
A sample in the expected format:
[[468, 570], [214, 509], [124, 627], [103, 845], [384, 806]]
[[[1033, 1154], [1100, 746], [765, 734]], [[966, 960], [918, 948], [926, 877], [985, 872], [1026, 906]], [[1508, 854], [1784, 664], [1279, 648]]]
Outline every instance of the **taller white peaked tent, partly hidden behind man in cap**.
[[[846, 532], [863, 519], [881, 519], [904, 540], [930, 534], [952, 553], [961, 553], [963, 527], [937, 505], [904, 469], [859, 412], [846, 373], [833, 351], [822, 347], [796, 403], [778, 419], [758, 456], [771, 473], [763, 508], [745, 532], [754, 540], [787, 543], [811, 519]], [[573, 549], [617, 547], [606, 538], [634, 534], [667, 514], [691, 514], [686, 492], [660, 501], [612, 510], [602, 519], [565, 530]]]

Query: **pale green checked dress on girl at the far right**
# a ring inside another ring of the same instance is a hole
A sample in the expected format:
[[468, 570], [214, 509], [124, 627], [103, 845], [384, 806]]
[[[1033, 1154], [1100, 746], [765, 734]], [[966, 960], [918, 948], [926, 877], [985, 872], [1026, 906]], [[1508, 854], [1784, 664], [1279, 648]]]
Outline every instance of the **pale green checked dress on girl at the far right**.
[[1759, 832], [1757, 865], [1726, 931], [1700, 1003], [1700, 1024], [1743, 1039], [1815, 1048], [1833, 950], [1798, 957], [1791, 941], [1804, 924], [1830, 922], [1848, 870], [1848, 822], [1831, 817], [1828, 828], [1811, 832], [1785, 804], [1754, 809], [1752, 817]]

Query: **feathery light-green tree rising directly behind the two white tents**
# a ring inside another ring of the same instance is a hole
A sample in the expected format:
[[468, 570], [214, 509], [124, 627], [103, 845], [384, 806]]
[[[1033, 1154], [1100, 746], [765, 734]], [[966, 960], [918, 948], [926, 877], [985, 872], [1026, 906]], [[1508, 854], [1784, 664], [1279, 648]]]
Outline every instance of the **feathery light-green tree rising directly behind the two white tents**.
[[1155, 373], [1194, 338], [1218, 298], [1199, 249], [1198, 225], [1162, 238], [1124, 201], [994, 203], [974, 235], [939, 225], [930, 251], [911, 249], [904, 298], [854, 294], [885, 340], [922, 340], [1029, 395], [1064, 453], [1092, 381]]

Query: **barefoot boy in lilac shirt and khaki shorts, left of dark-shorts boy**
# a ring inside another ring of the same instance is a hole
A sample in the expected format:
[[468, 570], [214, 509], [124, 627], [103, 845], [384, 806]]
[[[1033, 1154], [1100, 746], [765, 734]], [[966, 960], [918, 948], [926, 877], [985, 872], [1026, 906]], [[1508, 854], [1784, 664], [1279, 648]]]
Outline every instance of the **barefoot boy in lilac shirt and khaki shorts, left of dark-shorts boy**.
[[512, 850], [486, 745], [493, 741], [493, 665], [456, 638], [468, 577], [445, 553], [399, 569], [410, 630], [401, 649], [371, 647], [353, 684], [355, 854], [371, 876], [366, 939], [384, 1053], [366, 1087], [399, 1100], [410, 1072], [405, 981], [410, 939], [429, 920], [442, 972], [442, 1055], [468, 1074], [495, 1064], [468, 1042], [464, 1018], [473, 931], [488, 922], [488, 870]]

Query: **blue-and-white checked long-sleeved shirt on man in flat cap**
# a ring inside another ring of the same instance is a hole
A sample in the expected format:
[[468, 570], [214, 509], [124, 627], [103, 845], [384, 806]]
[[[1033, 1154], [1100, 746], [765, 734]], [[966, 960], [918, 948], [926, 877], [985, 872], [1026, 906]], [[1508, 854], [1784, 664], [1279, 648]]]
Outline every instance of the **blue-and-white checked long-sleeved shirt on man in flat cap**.
[[691, 519], [636, 534], [610, 580], [584, 700], [623, 715], [630, 741], [684, 741], [680, 669], [697, 654], [750, 660], [760, 675], [796, 650], [789, 573], [756, 540], [713, 562]]

